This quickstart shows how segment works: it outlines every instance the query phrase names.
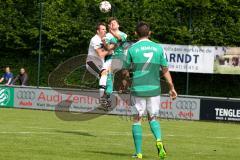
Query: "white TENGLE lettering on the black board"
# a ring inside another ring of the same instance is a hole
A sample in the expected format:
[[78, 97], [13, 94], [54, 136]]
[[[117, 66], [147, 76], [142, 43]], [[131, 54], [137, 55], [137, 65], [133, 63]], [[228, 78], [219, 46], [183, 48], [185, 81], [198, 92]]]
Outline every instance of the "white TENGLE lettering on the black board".
[[240, 118], [240, 110], [215, 108], [216, 116]]

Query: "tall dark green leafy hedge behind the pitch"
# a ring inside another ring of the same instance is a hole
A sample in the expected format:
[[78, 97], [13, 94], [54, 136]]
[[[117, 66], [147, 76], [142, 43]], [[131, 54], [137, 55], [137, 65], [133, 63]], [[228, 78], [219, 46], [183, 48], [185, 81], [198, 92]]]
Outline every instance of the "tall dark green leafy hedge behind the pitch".
[[[64, 59], [86, 54], [96, 23], [106, 22], [110, 16], [119, 19], [121, 30], [128, 34], [129, 40], [136, 38], [136, 23], [144, 20], [150, 23], [151, 38], [157, 42], [219, 46], [240, 44], [240, 0], [109, 0], [112, 4], [110, 13], [99, 11], [100, 1], [42, 0], [41, 85], [47, 85], [48, 74]], [[17, 68], [24, 61], [22, 65], [32, 71], [32, 77], [37, 77], [35, 54], [39, 44], [40, 5], [40, 0], [0, 0], [0, 67], [12, 65]], [[9, 58], [5, 53], [11, 54], [11, 60], [6, 61]], [[184, 81], [181, 82], [183, 85], [179, 85], [184, 86], [185, 76], [176, 75], [179, 81]], [[203, 77], [206, 82], [208, 76]], [[233, 79], [239, 78], [235, 76]], [[35, 81], [36, 78], [32, 85], [36, 84]], [[203, 85], [209, 87], [206, 83]], [[203, 93], [196, 90], [192, 90], [191, 94]]]

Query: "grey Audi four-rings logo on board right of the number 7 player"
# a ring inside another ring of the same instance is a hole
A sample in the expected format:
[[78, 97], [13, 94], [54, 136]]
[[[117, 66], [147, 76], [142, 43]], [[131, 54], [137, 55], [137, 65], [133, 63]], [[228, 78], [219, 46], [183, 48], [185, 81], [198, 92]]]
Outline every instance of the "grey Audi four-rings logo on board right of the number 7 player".
[[176, 102], [176, 108], [182, 109], [182, 110], [196, 110], [198, 107], [198, 104], [196, 101], [191, 100], [180, 100]]

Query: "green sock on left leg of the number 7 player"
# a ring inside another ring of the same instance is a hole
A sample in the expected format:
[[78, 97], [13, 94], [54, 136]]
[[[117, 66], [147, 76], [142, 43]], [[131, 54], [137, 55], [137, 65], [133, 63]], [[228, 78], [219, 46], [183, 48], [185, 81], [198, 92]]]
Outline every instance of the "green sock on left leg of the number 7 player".
[[132, 125], [132, 134], [136, 154], [142, 153], [142, 125], [140, 123], [135, 123]]

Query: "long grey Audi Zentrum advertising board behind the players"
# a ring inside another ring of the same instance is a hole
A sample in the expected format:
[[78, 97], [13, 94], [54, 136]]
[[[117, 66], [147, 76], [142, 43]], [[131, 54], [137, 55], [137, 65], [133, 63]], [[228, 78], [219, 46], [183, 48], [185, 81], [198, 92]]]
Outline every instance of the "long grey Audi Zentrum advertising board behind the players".
[[[88, 113], [106, 113], [99, 109], [97, 91], [15, 88], [15, 107]], [[112, 109], [107, 114], [133, 115], [129, 94], [113, 94]], [[200, 99], [161, 97], [159, 116], [171, 119], [199, 120]]]

